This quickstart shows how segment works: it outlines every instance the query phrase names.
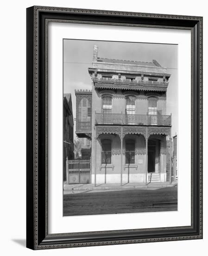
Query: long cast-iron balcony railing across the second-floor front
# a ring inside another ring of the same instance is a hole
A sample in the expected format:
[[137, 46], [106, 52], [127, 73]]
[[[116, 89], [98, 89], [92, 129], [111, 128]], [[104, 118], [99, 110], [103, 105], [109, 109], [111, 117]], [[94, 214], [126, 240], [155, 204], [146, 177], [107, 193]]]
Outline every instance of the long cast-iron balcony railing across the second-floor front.
[[171, 115], [95, 114], [95, 124], [171, 125]]

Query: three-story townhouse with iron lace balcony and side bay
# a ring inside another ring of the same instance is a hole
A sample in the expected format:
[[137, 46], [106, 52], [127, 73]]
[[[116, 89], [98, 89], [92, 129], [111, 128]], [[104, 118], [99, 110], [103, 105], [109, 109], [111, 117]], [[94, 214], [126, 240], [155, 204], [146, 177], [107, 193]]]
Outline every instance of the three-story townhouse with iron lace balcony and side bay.
[[155, 60], [98, 57], [91, 91], [76, 91], [76, 135], [92, 139], [92, 183], [166, 182], [166, 115], [170, 74]]

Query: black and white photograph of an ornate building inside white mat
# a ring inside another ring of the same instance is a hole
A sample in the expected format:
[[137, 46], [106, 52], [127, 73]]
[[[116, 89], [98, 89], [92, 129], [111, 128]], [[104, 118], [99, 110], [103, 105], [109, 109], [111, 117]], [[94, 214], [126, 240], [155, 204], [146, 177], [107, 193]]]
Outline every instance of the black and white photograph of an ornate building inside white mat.
[[178, 46], [63, 39], [63, 216], [177, 211]]

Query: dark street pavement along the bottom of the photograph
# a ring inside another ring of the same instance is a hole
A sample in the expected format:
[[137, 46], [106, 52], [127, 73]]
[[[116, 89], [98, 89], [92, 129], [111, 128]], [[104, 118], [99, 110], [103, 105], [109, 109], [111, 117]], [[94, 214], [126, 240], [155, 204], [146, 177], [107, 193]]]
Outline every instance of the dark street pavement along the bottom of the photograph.
[[[93, 193], [92, 193], [93, 191]], [[63, 216], [177, 210], [177, 187], [155, 189], [82, 190], [63, 195]]]

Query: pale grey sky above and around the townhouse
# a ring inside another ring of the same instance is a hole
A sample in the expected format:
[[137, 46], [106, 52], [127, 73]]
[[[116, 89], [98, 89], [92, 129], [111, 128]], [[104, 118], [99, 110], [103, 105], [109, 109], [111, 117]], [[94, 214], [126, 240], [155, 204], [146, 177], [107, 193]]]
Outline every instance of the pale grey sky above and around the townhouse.
[[[128, 61], [158, 61], [171, 74], [167, 88], [166, 115], [172, 114], [172, 136], [178, 131], [177, 45], [95, 40], [63, 40], [63, 93], [71, 93], [76, 118], [75, 89], [92, 89], [88, 67], [92, 67], [93, 46], [98, 57]], [[75, 130], [75, 129], [74, 129]], [[76, 136], [75, 136], [76, 138]]]

